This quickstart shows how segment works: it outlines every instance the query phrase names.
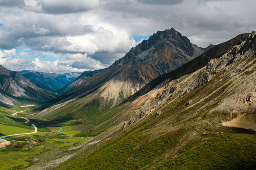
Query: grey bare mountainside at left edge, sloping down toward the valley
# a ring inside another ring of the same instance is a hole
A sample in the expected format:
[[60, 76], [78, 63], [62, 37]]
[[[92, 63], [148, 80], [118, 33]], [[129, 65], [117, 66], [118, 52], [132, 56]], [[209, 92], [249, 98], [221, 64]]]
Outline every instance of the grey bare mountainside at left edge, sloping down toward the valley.
[[19, 72], [0, 65], [0, 102], [15, 105], [20, 102], [42, 103], [57, 97], [55, 93], [38, 88]]

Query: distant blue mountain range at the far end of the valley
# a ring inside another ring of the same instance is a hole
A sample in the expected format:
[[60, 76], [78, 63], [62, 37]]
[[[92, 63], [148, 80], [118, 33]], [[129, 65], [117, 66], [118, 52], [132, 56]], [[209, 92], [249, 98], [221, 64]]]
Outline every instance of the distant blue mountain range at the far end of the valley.
[[33, 70], [23, 70], [21, 71], [21, 74], [38, 87], [51, 92], [55, 92], [56, 90], [73, 83], [73, 81], [75, 81], [75, 79], [81, 75], [81, 73], [75, 72], [56, 74], [36, 72]]

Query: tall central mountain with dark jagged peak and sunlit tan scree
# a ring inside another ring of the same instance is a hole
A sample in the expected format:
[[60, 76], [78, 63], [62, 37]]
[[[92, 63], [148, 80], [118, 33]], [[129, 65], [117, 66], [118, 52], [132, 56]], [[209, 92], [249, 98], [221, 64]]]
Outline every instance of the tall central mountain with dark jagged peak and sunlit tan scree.
[[[133, 47], [125, 57], [117, 60], [94, 76], [83, 76], [66, 86], [54, 104], [88, 93], [97, 93], [102, 104], [114, 106], [136, 93], [155, 77], [168, 73], [200, 55], [203, 51], [193, 45], [174, 28], [158, 31], [148, 40]], [[97, 91], [95, 91], [97, 90]]]

